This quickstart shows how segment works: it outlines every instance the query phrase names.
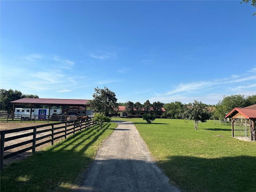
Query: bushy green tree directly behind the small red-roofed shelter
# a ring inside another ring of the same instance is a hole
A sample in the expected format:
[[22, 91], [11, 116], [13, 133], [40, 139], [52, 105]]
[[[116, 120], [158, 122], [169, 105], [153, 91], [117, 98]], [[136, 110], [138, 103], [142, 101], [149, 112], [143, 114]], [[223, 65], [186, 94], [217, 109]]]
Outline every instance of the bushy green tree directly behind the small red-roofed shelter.
[[236, 107], [246, 107], [246, 98], [244, 95], [223, 96], [223, 99], [216, 104], [214, 116], [222, 120], [227, 113]]

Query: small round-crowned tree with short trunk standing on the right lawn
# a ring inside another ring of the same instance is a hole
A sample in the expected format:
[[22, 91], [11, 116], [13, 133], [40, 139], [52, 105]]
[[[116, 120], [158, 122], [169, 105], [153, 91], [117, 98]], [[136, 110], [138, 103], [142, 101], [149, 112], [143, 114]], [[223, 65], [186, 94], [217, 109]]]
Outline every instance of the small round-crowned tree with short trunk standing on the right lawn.
[[189, 103], [184, 106], [182, 117], [192, 120], [197, 130], [198, 122], [206, 122], [206, 120], [210, 118], [210, 112], [206, 104], [194, 100], [194, 103]]

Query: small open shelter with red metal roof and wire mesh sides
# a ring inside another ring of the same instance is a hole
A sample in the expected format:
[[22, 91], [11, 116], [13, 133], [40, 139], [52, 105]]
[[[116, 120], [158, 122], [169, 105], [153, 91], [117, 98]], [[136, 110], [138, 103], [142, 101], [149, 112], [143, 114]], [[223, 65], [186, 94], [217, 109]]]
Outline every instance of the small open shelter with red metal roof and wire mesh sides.
[[[239, 129], [244, 132], [244, 136], [249, 140], [256, 141], [256, 104], [245, 108], [234, 108], [225, 118], [231, 118], [232, 137], [236, 137], [236, 124], [239, 124]], [[244, 127], [244, 128], [241, 128]], [[247, 136], [247, 130], [249, 132]]]

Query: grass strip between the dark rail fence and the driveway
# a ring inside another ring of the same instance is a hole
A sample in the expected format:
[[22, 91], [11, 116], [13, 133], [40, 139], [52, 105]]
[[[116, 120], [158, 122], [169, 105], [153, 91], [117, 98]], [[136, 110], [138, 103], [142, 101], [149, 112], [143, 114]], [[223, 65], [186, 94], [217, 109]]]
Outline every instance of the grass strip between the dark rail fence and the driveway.
[[117, 124], [87, 128], [1, 171], [1, 192], [71, 191]]

